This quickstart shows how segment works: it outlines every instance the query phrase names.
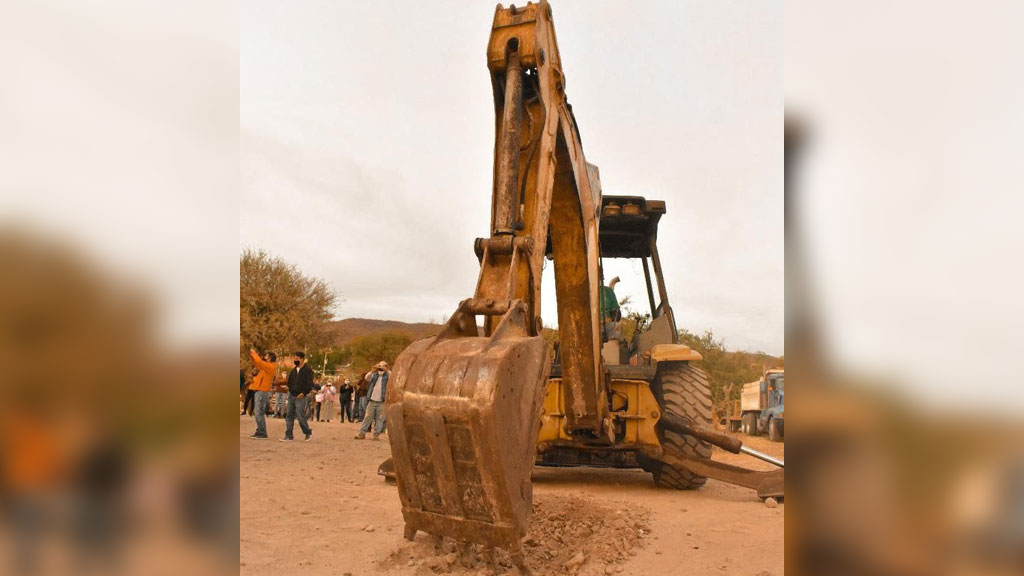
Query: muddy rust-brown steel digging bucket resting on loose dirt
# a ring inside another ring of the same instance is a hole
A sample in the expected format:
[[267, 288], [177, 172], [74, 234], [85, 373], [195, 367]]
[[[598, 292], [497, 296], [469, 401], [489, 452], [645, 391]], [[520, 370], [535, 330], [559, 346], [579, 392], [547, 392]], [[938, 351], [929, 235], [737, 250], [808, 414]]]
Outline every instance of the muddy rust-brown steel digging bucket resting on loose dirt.
[[388, 386], [388, 438], [406, 537], [418, 530], [507, 548], [532, 507], [530, 471], [547, 380], [547, 343], [516, 300], [488, 337], [462, 307], [434, 337], [410, 345]]

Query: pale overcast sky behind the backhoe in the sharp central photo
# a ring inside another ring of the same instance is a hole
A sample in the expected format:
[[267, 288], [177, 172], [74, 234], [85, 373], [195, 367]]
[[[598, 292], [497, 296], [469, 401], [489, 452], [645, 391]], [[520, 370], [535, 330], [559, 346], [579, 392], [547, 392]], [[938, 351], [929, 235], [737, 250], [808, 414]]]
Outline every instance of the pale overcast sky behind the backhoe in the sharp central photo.
[[[782, 3], [552, 8], [604, 193], [668, 203], [679, 326], [782, 354]], [[242, 246], [327, 280], [339, 318], [446, 318], [472, 295], [489, 221], [495, 3], [240, 9]]]

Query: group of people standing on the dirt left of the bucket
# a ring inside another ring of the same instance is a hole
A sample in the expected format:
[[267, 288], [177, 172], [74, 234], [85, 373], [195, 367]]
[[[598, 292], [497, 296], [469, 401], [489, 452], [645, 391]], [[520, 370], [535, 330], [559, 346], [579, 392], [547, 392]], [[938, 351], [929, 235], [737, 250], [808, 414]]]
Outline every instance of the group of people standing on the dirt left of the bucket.
[[256, 419], [256, 431], [250, 438], [267, 438], [268, 415], [285, 419], [285, 437], [281, 439], [282, 442], [294, 440], [295, 420], [299, 421], [299, 428], [306, 442], [309, 442], [313, 431], [308, 420], [315, 418], [317, 422], [330, 422], [335, 415], [339, 416], [341, 422], [346, 418], [350, 422], [362, 422], [356, 440], [365, 439], [371, 429], [373, 439], [377, 440], [387, 429], [384, 402], [391, 375], [387, 362], [378, 363], [354, 384], [345, 379], [341, 385], [337, 385], [333, 378], [317, 378], [302, 352], [292, 356], [294, 368], [280, 373], [278, 357], [272, 352], [260, 356], [255, 349], [250, 349], [249, 356], [254, 366], [252, 378], [247, 383], [243, 370], [240, 386], [245, 394], [242, 414], [248, 413]]

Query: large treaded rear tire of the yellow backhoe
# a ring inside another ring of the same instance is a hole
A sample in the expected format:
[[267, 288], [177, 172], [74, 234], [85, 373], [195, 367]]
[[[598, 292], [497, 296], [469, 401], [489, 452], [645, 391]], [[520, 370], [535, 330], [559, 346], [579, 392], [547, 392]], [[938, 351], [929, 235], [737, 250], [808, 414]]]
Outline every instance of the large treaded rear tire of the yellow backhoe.
[[[653, 382], [654, 398], [667, 414], [689, 420], [701, 426], [712, 426], [711, 387], [708, 375], [696, 366], [682, 362], [663, 362], [657, 366]], [[663, 446], [687, 456], [711, 458], [711, 444], [691, 436], [658, 428]], [[654, 484], [676, 490], [692, 490], [708, 482], [683, 468], [674, 468], [665, 462], [648, 460], [644, 469], [654, 477]]]

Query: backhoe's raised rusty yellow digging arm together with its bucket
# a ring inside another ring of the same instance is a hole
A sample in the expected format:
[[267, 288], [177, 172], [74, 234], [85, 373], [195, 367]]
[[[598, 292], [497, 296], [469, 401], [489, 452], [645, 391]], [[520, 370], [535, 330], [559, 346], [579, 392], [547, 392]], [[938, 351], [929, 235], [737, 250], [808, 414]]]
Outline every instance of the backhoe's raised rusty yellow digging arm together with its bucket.
[[550, 366], [541, 335], [549, 234], [565, 426], [599, 436], [606, 422], [597, 304], [601, 191], [565, 99], [547, 2], [498, 5], [487, 68], [494, 189], [489, 236], [474, 244], [476, 290], [436, 336], [398, 357], [387, 420], [406, 536], [422, 530], [508, 548], [525, 572], [519, 539], [531, 511], [529, 476]]

